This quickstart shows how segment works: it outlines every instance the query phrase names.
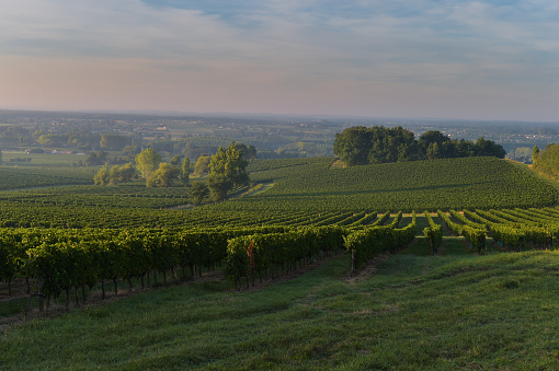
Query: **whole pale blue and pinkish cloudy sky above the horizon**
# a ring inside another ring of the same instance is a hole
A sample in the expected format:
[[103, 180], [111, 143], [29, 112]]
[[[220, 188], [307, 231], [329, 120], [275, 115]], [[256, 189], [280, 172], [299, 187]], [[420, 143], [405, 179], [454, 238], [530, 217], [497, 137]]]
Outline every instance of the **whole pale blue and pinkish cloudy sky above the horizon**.
[[0, 108], [559, 121], [559, 2], [2, 0]]

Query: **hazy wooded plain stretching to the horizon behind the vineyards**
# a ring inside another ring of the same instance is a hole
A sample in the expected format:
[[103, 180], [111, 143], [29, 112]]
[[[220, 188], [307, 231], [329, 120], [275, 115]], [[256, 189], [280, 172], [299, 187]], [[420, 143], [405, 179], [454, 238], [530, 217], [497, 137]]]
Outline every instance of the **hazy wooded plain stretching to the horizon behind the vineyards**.
[[[536, 144], [545, 148], [559, 142], [557, 123], [0, 111], [0, 150], [56, 149], [90, 154], [126, 148], [124, 159], [114, 160], [124, 164], [146, 147], [195, 160], [237, 141], [254, 146], [260, 159], [324, 156], [333, 155], [335, 134], [355, 126], [401, 126], [417, 138], [430, 130], [453, 140], [475, 141], [483, 137], [501, 144], [509, 158], [518, 160], [529, 160]], [[99, 164], [90, 158], [76, 163]]]

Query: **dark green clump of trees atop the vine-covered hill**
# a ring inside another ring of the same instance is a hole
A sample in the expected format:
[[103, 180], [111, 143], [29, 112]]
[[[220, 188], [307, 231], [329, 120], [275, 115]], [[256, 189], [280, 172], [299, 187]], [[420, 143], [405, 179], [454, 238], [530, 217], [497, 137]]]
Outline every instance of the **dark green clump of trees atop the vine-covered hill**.
[[419, 140], [401, 126], [355, 126], [335, 135], [334, 154], [347, 166], [386, 162], [434, 160], [506, 154], [502, 146], [483, 137], [478, 140], [450, 139], [438, 130], [424, 132]]

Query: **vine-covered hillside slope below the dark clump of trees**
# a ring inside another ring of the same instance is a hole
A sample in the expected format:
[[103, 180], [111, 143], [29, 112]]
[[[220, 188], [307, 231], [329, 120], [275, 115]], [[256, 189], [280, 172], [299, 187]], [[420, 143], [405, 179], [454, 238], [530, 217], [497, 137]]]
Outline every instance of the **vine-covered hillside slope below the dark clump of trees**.
[[[495, 158], [413, 161], [333, 169], [333, 159], [255, 162], [253, 182], [275, 182], [258, 196], [220, 205], [258, 210], [526, 208], [556, 205], [557, 187]], [[266, 164], [270, 167], [266, 170]]]

